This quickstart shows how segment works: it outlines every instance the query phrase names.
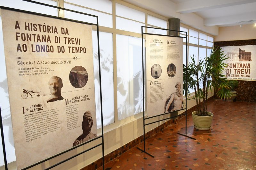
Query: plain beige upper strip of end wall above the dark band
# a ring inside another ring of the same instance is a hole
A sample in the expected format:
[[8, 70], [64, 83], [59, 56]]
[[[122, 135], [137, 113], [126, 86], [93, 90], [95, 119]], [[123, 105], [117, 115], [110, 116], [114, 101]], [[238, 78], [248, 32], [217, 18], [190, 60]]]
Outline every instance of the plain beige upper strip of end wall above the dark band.
[[235, 41], [256, 39], [256, 26], [248, 24], [240, 26], [219, 27], [219, 35], [215, 41]]

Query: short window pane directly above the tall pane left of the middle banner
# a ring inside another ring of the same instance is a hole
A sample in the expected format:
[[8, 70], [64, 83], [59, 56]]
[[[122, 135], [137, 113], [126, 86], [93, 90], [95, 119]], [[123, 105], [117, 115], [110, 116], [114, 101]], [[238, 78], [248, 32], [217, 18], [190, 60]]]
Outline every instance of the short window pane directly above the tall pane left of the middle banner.
[[141, 26], [145, 26], [145, 24], [135, 22], [129, 19], [116, 17], [116, 29], [141, 33]]

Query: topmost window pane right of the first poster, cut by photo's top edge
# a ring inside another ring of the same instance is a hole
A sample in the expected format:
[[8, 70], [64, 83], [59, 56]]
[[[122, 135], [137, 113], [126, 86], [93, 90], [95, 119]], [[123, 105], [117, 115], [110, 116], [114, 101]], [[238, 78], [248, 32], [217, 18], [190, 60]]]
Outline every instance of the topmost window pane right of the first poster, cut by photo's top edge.
[[85, 6], [112, 14], [112, 2], [109, 0], [65, 0], [66, 2]]

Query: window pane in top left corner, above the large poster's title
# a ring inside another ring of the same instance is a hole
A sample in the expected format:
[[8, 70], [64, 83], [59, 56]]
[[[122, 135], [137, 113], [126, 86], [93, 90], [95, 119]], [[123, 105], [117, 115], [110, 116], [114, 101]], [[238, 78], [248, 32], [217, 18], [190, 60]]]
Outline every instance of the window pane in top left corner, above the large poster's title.
[[[41, 2], [44, 4], [49, 4], [53, 6], [58, 6], [57, 2], [51, 1], [51, 0], [35, 0], [37, 2]], [[52, 7], [47, 7], [44, 5], [39, 5], [39, 4], [34, 4], [26, 1], [20, 1], [20, 0], [12, 0], [12, 1], [0, 1], [0, 6], [6, 6], [10, 8], [16, 8], [20, 10], [25, 10], [25, 11], [31, 11], [31, 12], [37, 12], [37, 13], [42, 13], [42, 14], [47, 14], [47, 15], [53, 15], [53, 16], [58, 16], [58, 9], [57, 8], [52, 8]], [[42, 23], [44, 24], [44, 23]]]

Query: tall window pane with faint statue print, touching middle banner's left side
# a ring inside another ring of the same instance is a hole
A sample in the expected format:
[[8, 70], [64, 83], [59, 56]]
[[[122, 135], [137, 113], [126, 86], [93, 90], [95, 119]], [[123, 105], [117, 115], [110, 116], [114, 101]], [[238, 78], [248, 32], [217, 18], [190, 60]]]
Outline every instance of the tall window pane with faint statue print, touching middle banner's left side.
[[143, 111], [141, 54], [141, 38], [116, 35], [118, 120]]

